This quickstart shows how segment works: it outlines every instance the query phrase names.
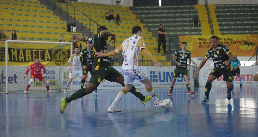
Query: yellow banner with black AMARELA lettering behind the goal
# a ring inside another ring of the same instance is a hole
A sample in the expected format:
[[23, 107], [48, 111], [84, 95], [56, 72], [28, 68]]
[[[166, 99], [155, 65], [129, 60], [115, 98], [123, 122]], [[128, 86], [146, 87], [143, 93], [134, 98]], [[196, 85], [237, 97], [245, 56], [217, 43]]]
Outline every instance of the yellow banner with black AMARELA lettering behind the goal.
[[[70, 57], [67, 44], [8, 43], [8, 66], [29, 66], [37, 57], [45, 66], [66, 66]], [[5, 65], [5, 42], [0, 42], [0, 65]]]

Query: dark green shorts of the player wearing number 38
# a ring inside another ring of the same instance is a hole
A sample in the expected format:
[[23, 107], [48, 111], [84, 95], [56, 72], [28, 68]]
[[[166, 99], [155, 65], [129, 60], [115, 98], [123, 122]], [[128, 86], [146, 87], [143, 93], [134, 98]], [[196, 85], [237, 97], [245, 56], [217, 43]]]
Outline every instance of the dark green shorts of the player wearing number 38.
[[217, 78], [219, 78], [221, 75], [223, 75], [224, 81], [232, 82], [232, 71], [230, 71], [230, 70], [217, 70], [217, 69], [214, 70], [213, 69], [209, 75], [216, 76]]

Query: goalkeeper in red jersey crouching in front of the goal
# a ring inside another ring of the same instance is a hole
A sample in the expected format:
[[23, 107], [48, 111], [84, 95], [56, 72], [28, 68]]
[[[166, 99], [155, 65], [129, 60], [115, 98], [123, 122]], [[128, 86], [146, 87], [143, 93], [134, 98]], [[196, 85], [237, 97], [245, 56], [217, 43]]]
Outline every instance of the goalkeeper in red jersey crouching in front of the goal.
[[[26, 70], [25, 75], [23, 77], [23, 78], [25, 78], [27, 76], [29, 70], [31, 70], [30, 80], [28, 82], [28, 85], [27, 85], [26, 89], [24, 90], [24, 94], [27, 94], [27, 91], [28, 91], [30, 85], [35, 81], [36, 78], [38, 78], [39, 81], [44, 82], [45, 86], [47, 87], [47, 92], [52, 93], [52, 91], [49, 90], [50, 83], [45, 77], [45, 74], [46, 74], [45, 66], [42, 63], [39, 63], [39, 58], [37, 58], [37, 57], [35, 58], [34, 62], [35, 63], [31, 64], [28, 67], [28, 69]], [[44, 70], [44, 74], [41, 73], [41, 69]]]

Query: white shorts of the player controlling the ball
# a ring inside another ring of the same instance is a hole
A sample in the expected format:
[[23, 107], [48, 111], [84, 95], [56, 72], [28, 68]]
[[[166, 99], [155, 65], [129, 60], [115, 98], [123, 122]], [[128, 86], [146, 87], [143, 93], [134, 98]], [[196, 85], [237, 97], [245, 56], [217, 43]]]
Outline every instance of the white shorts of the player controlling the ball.
[[139, 69], [122, 69], [124, 74], [124, 84], [133, 84], [135, 81], [142, 81], [147, 77], [147, 74]]

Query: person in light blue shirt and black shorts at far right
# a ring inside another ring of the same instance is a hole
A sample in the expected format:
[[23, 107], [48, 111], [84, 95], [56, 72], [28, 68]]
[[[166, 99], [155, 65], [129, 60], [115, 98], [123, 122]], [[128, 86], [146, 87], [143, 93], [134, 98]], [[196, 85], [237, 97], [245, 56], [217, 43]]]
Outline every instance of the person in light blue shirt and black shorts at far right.
[[238, 79], [239, 79], [239, 82], [240, 82], [240, 87], [243, 87], [242, 85], [242, 80], [241, 80], [241, 77], [240, 77], [240, 69], [239, 69], [239, 66], [241, 66], [241, 63], [240, 61], [236, 58], [236, 55], [233, 54], [233, 60], [231, 61], [231, 64], [232, 64], [232, 86], [234, 86], [234, 76], [237, 75]]

